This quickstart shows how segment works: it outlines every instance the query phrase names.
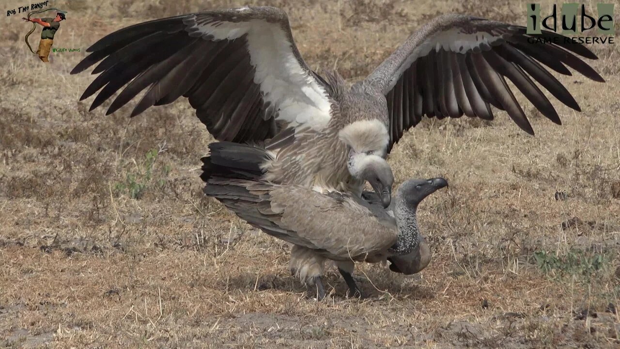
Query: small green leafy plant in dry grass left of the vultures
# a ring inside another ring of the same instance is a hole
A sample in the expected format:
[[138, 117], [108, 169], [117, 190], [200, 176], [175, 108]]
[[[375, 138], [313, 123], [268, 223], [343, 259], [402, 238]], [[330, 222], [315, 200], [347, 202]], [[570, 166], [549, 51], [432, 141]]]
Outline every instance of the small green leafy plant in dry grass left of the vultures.
[[[117, 193], [126, 193], [133, 199], [139, 199], [143, 196], [148, 186], [155, 184], [158, 188], [163, 188], [166, 185], [166, 177], [172, 168], [170, 168], [170, 165], [164, 165], [156, 173], [155, 163], [159, 153], [161, 153], [161, 150], [156, 148], [146, 152], [144, 161], [138, 164], [134, 171], [126, 173], [125, 181], [114, 184], [115, 191]], [[161, 176], [157, 181], [153, 179], [155, 174]]]

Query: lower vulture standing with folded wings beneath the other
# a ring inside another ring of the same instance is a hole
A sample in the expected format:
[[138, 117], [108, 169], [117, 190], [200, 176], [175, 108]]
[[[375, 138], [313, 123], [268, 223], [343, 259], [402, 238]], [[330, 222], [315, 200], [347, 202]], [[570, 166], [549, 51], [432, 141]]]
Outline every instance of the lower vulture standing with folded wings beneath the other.
[[[291, 265], [316, 287], [317, 300], [325, 297], [325, 260], [336, 262], [349, 294], [359, 297], [363, 294], [352, 277], [355, 261], [389, 260], [392, 271], [404, 274], [428, 265], [430, 252], [420, 235], [416, 210], [425, 197], [448, 186], [445, 179], [405, 181], [392, 201], [393, 211], [387, 211], [380, 202], [352, 193], [321, 193], [266, 181], [261, 165], [273, 154], [263, 148], [231, 142], [211, 143], [209, 148], [210, 155], [202, 159], [205, 194], [250, 225], [293, 243], [293, 251], [301, 250], [291, 253]], [[389, 169], [386, 161], [377, 166]]]

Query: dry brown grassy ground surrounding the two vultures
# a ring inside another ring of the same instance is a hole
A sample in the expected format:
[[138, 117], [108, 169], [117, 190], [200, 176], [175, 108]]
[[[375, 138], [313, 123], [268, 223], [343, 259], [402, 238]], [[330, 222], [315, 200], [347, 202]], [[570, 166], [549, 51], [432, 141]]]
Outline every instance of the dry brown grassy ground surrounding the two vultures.
[[80, 51], [53, 52], [49, 65], [27, 51], [22, 14], [2, 17], [0, 346], [620, 347], [618, 44], [589, 46], [605, 84], [560, 78], [583, 110], [550, 97], [562, 126], [518, 96], [536, 137], [503, 112], [407, 133], [389, 157], [396, 185], [450, 183], [418, 210], [433, 261], [409, 278], [358, 265], [363, 301], [345, 298], [335, 268], [329, 299], [307, 299], [286, 243], [203, 196], [200, 157], [213, 138], [186, 100], [104, 116], [107, 104], [88, 112], [92, 98], [78, 102], [93, 77], [68, 74], [127, 25], [270, 4], [288, 12], [313, 69], [356, 81], [438, 14], [525, 24], [525, 3], [50, 1], [68, 11], [55, 47]]

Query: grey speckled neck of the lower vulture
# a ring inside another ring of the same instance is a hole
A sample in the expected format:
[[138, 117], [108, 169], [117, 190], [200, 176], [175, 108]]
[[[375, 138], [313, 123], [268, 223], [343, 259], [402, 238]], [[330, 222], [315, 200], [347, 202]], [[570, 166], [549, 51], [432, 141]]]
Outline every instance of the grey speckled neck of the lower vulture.
[[420, 242], [420, 232], [418, 230], [418, 222], [415, 219], [415, 210], [417, 206], [407, 205], [404, 200], [396, 202], [394, 216], [396, 217], [396, 225], [398, 226], [398, 236], [396, 243], [390, 248], [390, 252], [394, 255], [407, 255], [411, 253]]

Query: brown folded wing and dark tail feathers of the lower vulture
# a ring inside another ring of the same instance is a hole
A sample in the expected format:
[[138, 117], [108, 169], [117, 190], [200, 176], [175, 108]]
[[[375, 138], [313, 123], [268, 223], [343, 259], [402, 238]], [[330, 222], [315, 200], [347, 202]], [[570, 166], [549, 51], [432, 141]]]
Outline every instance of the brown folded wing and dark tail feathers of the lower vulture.
[[346, 193], [269, 183], [257, 166], [269, 155], [258, 147], [214, 143], [210, 148], [203, 158], [205, 193], [268, 234], [330, 260], [381, 258], [396, 242], [396, 222], [380, 207]]

